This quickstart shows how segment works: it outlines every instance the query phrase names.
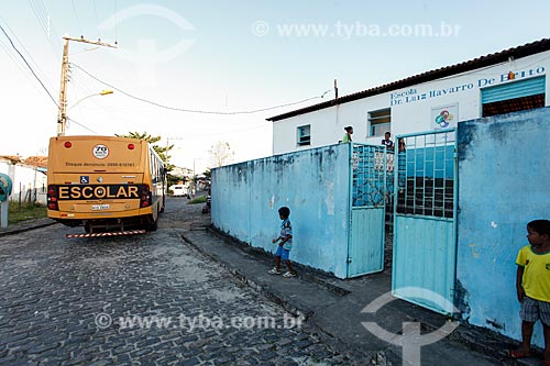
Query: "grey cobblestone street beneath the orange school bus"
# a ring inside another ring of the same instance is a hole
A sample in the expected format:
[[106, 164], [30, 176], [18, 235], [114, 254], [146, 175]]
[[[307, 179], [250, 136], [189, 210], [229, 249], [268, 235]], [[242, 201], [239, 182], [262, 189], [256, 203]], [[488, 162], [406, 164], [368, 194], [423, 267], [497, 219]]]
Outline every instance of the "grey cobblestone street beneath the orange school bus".
[[1, 365], [348, 365], [298, 319], [182, 239], [201, 206], [169, 199], [145, 235], [0, 239]]

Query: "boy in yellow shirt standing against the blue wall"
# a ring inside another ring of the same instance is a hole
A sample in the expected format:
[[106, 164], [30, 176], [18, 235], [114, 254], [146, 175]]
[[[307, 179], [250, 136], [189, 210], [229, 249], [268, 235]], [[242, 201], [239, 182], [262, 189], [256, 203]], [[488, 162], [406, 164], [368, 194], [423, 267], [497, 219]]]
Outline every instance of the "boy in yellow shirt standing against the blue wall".
[[527, 224], [527, 240], [517, 256], [516, 290], [521, 302], [521, 347], [510, 352], [513, 358], [529, 357], [535, 322], [540, 320], [544, 334], [546, 366], [550, 366], [550, 221]]

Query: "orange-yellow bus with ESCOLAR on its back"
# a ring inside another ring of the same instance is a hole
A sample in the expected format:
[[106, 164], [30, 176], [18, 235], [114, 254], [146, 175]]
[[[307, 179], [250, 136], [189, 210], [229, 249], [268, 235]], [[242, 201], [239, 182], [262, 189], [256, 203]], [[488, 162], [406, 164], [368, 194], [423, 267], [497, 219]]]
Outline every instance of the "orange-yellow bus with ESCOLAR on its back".
[[84, 225], [87, 234], [78, 236], [156, 230], [165, 204], [166, 169], [146, 141], [52, 137], [47, 165], [47, 217], [68, 226]]

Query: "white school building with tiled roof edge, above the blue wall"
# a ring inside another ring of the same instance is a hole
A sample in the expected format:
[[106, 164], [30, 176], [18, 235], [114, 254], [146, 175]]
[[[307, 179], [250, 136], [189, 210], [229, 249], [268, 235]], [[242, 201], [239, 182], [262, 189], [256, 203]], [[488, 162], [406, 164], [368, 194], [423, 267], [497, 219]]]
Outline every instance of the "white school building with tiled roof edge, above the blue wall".
[[[550, 38], [275, 115], [273, 154], [397, 134], [455, 127], [460, 121], [549, 104]], [[395, 141], [394, 141], [395, 142]]]

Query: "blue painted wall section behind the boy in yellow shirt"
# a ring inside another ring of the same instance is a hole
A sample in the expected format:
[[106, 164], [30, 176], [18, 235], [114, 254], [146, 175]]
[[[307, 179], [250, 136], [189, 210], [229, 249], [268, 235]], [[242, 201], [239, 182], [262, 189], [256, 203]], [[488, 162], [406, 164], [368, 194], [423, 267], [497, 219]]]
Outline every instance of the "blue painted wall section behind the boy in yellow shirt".
[[526, 224], [550, 218], [550, 109], [461, 122], [458, 138], [457, 303], [471, 324], [520, 340], [515, 262]]

